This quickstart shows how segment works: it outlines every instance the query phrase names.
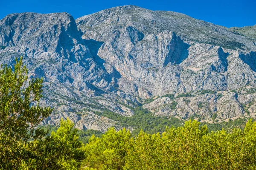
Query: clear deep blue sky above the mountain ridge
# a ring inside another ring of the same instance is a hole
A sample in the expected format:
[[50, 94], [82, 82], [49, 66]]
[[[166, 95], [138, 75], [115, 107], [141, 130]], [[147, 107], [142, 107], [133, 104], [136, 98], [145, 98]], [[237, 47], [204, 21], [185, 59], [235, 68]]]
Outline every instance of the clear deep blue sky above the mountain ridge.
[[256, 0], [0, 0], [0, 19], [20, 12], [68, 12], [76, 19], [123, 5], [181, 12], [226, 27], [256, 25]]

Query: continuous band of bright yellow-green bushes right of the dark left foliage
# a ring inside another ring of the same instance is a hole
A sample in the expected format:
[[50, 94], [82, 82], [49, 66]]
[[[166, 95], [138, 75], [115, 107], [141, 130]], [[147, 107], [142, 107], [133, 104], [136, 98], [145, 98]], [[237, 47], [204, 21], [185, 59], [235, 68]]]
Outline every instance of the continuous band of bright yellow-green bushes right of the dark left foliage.
[[256, 169], [256, 122], [244, 130], [209, 132], [197, 121], [166, 128], [160, 134], [143, 131], [131, 137], [125, 129], [109, 129], [102, 138], [93, 136], [85, 146], [84, 169]]

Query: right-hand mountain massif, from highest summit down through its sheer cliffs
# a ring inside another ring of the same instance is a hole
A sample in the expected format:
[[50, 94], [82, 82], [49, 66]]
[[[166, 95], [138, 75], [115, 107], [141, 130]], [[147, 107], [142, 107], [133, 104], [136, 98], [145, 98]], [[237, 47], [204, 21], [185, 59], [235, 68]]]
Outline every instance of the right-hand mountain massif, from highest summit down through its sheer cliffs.
[[84, 40], [102, 43], [97, 55], [121, 74], [117, 84], [126, 93], [148, 98], [254, 83], [250, 50], [256, 46], [222, 26], [137, 6], [106, 9], [76, 23]]

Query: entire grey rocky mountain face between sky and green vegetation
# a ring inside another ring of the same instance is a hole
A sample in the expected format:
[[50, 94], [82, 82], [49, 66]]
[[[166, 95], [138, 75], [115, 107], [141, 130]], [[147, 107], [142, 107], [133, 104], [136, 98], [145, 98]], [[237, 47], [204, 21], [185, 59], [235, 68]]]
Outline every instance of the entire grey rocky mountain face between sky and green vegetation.
[[67, 13], [21, 13], [0, 20], [0, 45], [1, 63], [12, 65], [22, 55], [30, 78], [44, 77], [41, 104], [55, 108], [44, 123], [70, 117], [80, 129], [119, 129], [94, 113], [132, 116], [135, 104], [180, 119], [256, 111], [255, 26], [225, 28], [137, 6], [77, 20]]

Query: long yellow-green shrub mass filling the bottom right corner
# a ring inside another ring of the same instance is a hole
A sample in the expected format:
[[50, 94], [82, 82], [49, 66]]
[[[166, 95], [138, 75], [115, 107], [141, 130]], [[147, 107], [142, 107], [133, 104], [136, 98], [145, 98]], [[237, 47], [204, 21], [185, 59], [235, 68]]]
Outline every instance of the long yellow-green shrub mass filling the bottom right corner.
[[256, 168], [256, 123], [244, 132], [233, 129], [208, 132], [196, 121], [166, 129], [162, 135], [143, 131], [131, 139], [124, 169], [254, 170]]

